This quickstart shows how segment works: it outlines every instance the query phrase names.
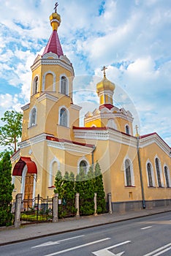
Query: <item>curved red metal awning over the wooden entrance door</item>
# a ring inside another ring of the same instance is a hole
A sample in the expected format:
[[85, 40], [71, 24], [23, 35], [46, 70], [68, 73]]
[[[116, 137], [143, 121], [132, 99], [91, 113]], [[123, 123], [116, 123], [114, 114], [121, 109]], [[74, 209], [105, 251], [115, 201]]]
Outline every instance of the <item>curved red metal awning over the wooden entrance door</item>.
[[23, 168], [27, 165], [28, 173], [37, 174], [37, 165], [35, 162], [31, 161], [30, 157], [20, 157], [20, 160], [15, 164], [12, 172], [12, 176], [22, 176]]

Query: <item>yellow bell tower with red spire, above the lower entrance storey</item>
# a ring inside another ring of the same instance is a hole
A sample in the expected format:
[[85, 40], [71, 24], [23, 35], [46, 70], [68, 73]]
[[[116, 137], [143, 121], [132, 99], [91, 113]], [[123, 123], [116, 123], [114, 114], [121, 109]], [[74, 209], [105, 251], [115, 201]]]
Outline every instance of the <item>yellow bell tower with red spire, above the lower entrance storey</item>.
[[30, 103], [23, 109], [22, 140], [40, 134], [72, 139], [72, 125], [79, 126], [80, 107], [72, 102], [72, 81], [75, 73], [72, 63], [64, 55], [58, 37], [61, 16], [50, 15], [53, 31], [42, 56], [38, 55], [31, 66]]

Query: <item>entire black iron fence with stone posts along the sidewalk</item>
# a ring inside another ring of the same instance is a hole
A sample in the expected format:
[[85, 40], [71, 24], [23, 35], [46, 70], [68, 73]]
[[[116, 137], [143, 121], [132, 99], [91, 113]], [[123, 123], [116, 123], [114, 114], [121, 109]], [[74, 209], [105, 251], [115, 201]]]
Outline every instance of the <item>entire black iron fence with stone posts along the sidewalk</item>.
[[[94, 214], [94, 200], [87, 199], [83, 200], [80, 198], [79, 200], [79, 212], [80, 216], [91, 215]], [[57, 202], [56, 202], [57, 203]], [[67, 198], [64, 197], [62, 199], [58, 198], [58, 219], [64, 219], [69, 217], [75, 217], [77, 214], [77, 206], [75, 197]], [[105, 201], [103, 203], [103, 207], [100, 208], [98, 202], [97, 204], [97, 214], [106, 213], [109, 211], [109, 202], [108, 197], [105, 197]], [[16, 210], [16, 201], [12, 200], [11, 203], [11, 211], [13, 217], [15, 217]], [[22, 225], [29, 223], [37, 223], [37, 222], [52, 222], [53, 221], [53, 198], [42, 198], [39, 195], [34, 197], [34, 199], [24, 199], [21, 201], [21, 208], [19, 211], [20, 222]], [[56, 205], [57, 207], [57, 205]], [[54, 208], [54, 210], [56, 209]]]

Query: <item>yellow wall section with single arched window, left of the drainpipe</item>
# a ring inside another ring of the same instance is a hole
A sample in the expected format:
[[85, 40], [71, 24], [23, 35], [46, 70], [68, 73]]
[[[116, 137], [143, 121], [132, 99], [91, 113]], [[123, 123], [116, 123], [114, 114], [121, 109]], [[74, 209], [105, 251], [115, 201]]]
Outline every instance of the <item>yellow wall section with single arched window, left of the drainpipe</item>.
[[[114, 142], [110, 143], [110, 147], [110, 159], [113, 159], [110, 167], [112, 201], [140, 200], [141, 190], [137, 162], [137, 148]], [[115, 153], [113, 152], [113, 148], [115, 148]], [[111, 156], [112, 154], [113, 156]], [[125, 184], [124, 162], [126, 159], [129, 159], [132, 163], [134, 173], [134, 176], [132, 177], [132, 186], [130, 187]]]

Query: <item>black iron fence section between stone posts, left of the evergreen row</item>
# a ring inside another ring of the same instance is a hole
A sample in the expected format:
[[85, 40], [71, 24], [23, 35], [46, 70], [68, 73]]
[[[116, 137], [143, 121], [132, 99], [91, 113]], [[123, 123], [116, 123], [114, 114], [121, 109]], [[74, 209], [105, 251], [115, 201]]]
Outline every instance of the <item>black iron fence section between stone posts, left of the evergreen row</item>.
[[24, 199], [21, 203], [20, 221], [24, 223], [51, 222], [53, 219], [52, 198], [42, 198], [39, 195], [33, 199]]

